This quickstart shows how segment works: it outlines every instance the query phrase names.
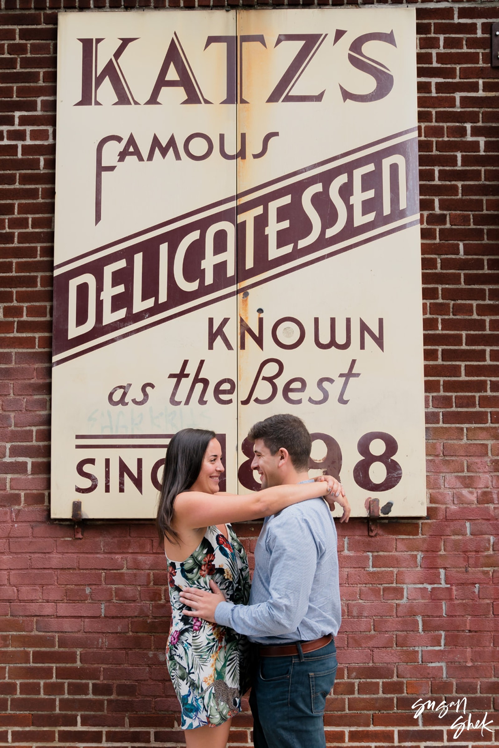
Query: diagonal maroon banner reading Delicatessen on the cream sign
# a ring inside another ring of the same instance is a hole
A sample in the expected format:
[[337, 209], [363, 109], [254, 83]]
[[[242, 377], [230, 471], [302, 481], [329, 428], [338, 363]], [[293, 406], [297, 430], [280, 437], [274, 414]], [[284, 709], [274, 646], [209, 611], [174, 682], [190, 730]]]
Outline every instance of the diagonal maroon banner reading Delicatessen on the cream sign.
[[397, 133], [237, 198], [58, 266], [55, 365], [414, 225], [417, 138]]

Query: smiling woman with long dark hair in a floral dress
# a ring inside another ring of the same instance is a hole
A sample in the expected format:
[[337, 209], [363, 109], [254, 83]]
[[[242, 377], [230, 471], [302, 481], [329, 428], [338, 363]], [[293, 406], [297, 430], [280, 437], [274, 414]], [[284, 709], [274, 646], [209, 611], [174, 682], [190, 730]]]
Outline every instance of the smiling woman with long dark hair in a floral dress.
[[[248, 560], [229, 522], [275, 514], [293, 503], [324, 496], [334, 479], [279, 485], [245, 496], [218, 494], [224, 466], [215, 433], [183, 429], [166, 454], [156, 523], [168, 560], [171, 629], [168, 672], [182, 707], [188, 748], [224, 748], [231, 718], [241, 710], [245, 681], [245, 637], [232, 629], [183, 615], [184, 586], [210, 589], [246, 604]], [[218, 496], [215, 496], [218, 494]]]

